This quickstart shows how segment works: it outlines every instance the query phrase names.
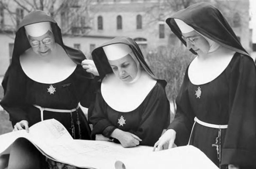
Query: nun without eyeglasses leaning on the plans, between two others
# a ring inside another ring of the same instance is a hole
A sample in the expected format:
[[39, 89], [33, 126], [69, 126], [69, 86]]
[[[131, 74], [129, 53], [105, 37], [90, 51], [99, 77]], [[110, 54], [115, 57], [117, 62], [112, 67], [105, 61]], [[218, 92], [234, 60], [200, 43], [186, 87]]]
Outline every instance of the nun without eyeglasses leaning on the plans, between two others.
[[169, 125], [165, 80], [157, 79], [135, 41], [116, 37], [92, 52], [102, 79], [89, 115], [96, 140], [153, 146]]

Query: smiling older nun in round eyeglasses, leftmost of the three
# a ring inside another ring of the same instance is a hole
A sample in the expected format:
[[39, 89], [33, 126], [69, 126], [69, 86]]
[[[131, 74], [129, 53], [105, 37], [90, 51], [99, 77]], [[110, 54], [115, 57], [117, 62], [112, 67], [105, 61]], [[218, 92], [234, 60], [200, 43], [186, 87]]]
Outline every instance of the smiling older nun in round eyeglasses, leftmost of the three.
[[[96, 96], [97, 79], [83, 69], [85, 59], [82, 51], [64, 45], [59, 26], [45, 12], [35, 10], [25, 16], [2, 82], [0, 104], [9, 113], [13, 130], [29, 132], [29, 126], [54, 118], [74, 139], [91, 139], [91, 129], [78, 106], [80, 102], [89, 108]], [[29, 147], [22, 151], [32, 159], [37, 157]], [[8, 168], [17, 168], [13, 161], [19, 163], [24, 156], [18, 150], [11, 152]]]

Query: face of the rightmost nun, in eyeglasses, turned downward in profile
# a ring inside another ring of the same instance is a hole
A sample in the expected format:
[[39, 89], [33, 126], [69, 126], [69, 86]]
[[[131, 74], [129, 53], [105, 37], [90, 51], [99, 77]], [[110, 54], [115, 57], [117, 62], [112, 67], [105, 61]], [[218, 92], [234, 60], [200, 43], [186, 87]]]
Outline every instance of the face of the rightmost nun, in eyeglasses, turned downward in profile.
[[199, 56], [205, 55], [210, 49], [208, 41], [195, 31], [182, 33], [183, 39], [186, 40], [187, 49], [193, 49]]

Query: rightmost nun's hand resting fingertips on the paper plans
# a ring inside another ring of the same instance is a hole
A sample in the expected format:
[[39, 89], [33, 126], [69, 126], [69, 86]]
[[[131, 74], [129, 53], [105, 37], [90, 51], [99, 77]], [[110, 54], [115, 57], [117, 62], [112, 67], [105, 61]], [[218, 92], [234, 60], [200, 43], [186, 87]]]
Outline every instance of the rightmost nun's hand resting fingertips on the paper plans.
[[168, 129], [155, 143], [153, 151], [163, 150], [164, 147], [172, 148], [175, 138], [176, 132], [173, 129]]

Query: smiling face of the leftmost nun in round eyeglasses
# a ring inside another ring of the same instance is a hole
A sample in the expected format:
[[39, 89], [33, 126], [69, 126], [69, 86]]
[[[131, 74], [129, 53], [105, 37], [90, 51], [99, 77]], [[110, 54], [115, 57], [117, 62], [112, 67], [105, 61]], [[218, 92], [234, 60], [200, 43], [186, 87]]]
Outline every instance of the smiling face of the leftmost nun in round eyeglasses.
[[55, 48], [54, 35], [51, 31], [48, 31], [44, 35], [38, 37], [28, 35], [27, 38], [32, 50], [40, 56], [50, 54]]

